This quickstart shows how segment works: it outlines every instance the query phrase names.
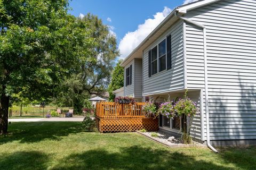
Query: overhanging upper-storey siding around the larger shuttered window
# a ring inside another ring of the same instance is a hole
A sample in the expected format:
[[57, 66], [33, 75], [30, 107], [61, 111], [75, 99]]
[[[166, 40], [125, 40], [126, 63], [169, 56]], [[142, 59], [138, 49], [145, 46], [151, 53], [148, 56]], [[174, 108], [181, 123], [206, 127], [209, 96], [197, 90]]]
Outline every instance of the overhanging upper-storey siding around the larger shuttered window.
[[[183, 89], [183, 22], [175, 23], [143, 52], [143, 96]], [[171, 34], [172, 69], [148, 77], [148, 50]]]

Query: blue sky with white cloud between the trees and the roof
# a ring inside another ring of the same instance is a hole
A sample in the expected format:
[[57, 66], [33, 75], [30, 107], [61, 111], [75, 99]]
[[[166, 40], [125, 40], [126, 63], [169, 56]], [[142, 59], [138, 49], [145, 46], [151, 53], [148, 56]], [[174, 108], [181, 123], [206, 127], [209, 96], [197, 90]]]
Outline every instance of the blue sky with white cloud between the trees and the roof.
[[73, 0], [69, 11], [75, 16], [98, 15], [116, 35], [121, 58], [139, 43], [175, 8], [193, 0]]

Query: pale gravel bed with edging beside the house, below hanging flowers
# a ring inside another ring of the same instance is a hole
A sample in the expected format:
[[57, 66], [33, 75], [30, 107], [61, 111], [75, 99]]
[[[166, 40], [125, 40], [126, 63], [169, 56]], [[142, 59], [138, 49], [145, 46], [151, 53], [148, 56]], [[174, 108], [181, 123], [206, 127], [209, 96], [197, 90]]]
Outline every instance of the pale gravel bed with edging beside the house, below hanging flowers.
[[153, 132], [140, 132], [140, 131], [137, 131], [137, 132], [151, 140], [159, 142], [168, 147], [205, 147], [205, 145], [203, 145], [201, 143], [194, 142], [194, 141], [190, 145], [183, 144], [179, 138], [175, 138], [174, 141], [169, 141], [167, 139], [172, 136], [170, 134], [167, 134], [164, 132], [154, 132], [154, 133], [157, 133], [157, 137], [151, 137], [151, 133], [153, 133]]

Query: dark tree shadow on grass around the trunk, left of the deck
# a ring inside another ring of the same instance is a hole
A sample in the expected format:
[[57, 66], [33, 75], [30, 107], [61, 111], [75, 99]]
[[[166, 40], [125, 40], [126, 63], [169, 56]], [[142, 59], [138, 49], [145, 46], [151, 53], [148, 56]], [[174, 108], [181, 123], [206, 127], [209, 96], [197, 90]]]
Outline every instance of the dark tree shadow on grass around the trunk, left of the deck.
[[21, 143], [61, 140], [82, 131], [81, 122], [13, 122], [9, 125], [9, 134], [0, 136], [0, 145], [15, 140]]

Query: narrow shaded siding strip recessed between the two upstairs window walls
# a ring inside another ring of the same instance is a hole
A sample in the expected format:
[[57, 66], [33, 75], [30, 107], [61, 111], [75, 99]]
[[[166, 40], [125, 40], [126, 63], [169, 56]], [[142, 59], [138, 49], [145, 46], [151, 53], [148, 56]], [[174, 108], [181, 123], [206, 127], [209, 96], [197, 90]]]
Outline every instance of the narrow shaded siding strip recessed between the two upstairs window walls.
[[134, 59], [134, 97], [142, 98], [142, 59]]

